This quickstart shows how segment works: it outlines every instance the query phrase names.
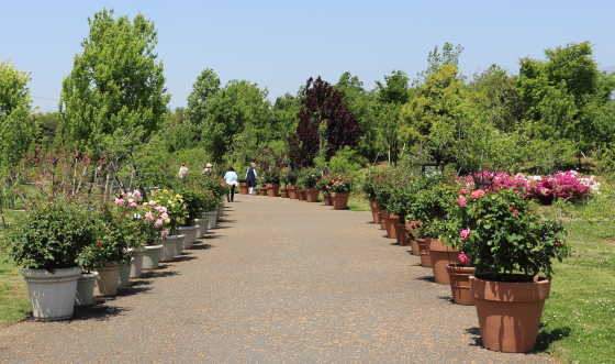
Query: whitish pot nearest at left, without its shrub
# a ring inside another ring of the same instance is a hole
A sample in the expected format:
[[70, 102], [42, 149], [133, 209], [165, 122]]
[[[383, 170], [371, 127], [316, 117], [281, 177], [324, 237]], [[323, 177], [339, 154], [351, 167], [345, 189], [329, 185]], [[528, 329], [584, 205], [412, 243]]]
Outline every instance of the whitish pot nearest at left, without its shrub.
[[32, 302], [32, 315], [38, 320], [64, 320], [72, 317], [77, 279], [81, 267], [55, 269], [22, 269]]

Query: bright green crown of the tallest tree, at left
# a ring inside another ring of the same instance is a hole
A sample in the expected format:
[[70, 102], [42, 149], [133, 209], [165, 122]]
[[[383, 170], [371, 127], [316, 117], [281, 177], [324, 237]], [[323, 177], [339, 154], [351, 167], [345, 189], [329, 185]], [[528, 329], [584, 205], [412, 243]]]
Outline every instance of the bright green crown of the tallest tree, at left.
[[154, 22], [142, 14], [131, 22], [103, 9], [88, 18], [89, 36], [64, 79], [59, 110], [63, 131], [78, 147], [101, 148], [109, 136], [143, 141], [167, 114], [163, 63]]

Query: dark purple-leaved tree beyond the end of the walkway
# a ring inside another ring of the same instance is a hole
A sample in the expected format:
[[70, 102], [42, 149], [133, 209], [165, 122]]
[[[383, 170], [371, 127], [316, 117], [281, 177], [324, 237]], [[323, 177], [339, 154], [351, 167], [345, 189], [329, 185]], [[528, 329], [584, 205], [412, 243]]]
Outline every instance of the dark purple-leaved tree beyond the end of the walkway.
[[314, 158], [328, 161], [344, 145], [357, 145], [359, 125], [348, 110], [343, 95], [331, 84], [310, 77], [301, 98], [303, 107], [298, 113], [298, 150], [291, 148], [291, 161], [295, 167], [314, 164]]

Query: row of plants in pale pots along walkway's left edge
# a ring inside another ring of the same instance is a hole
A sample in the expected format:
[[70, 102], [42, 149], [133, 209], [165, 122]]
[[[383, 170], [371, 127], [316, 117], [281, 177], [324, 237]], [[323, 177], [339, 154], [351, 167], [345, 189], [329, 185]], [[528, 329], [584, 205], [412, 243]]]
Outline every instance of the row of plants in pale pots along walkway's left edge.
[[114, 296], [142, 269], [170, 262], [213, 228], [226, 186], [200, 176], [174, 190], [138, 190], [104, 196], [35, 199], [0, 241], [23, 267], [33, 316], [62, 320], [74, 306], [89, 306], [94, 293]]

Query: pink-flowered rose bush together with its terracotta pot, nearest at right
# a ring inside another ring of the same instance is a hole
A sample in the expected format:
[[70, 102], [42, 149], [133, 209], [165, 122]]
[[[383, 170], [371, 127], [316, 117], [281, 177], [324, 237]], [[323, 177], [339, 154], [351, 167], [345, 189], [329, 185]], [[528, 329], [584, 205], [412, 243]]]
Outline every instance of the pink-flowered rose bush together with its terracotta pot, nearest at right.
[[461, 190], [454, 212], [458, 219], [445, 240], [471, 254], [468, 264], [477, 273], [469, 278], [470, 293], [483, 345], [532, 351], [549, 297], [552, 260], [568, 254], [561, 221], [537, 214], [534, 203], [512, 189]]

